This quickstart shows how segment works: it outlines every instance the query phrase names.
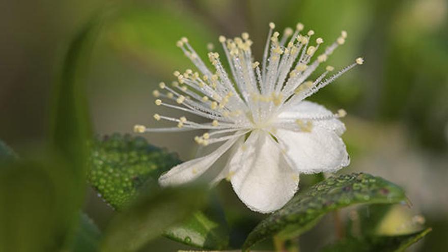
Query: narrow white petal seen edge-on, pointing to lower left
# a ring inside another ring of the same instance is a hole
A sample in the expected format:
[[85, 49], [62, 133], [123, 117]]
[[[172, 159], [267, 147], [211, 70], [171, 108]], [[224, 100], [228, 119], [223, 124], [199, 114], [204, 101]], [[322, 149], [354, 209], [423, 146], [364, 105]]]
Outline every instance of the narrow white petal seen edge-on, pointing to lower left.
[[161, 186], [180, 185], [199, 178], [216, 160], [238, 140], [238, 137], [228, 140], [210, 154], [195, 158], [174, 166], [159, 178]]

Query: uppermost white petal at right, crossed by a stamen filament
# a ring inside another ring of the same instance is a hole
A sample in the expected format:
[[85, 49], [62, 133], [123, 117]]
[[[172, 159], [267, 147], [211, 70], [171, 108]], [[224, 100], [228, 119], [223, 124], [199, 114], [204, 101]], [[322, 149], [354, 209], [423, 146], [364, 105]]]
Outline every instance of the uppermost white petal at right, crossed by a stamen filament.
[[[311, 101], [301, 101], [296, 105], [292, 105], [288, 110], [278, 115], [278, 118], [303, 118], [303, 117], [322, 117], [331, 116], [333, 113], [324, 106]], [[313, 121], [313, 125], [317, 125], [329, 130], [333, 130], [338, 135], [345, 132], [345, 125], [339, 119], [329, 119]]]

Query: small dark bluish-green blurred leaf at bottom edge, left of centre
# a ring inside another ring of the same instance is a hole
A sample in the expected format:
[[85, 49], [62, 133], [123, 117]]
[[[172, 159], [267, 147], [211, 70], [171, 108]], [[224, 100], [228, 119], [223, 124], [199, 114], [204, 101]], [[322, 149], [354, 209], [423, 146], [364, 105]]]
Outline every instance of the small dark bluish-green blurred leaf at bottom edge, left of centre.
[[92, 219], [85, 213], [81, 213], [78, 230], [70, 249], [72, 252], [96, 252], [98, 251], [101, 231]]

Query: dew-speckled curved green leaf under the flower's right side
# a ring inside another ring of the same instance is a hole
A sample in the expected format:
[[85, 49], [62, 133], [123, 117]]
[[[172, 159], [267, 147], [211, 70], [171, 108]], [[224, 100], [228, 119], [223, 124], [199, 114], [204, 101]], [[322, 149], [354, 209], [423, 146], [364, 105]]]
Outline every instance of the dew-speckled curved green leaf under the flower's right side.
[[296, 237], [316, 225], [324, 214], [339, 208], [405, 200], [402, 188], [380, 177], [362, 173], [330, 177], [296, 194], [282, 209], [262, 220], [247, 237], [243, 250], [273, 235]]

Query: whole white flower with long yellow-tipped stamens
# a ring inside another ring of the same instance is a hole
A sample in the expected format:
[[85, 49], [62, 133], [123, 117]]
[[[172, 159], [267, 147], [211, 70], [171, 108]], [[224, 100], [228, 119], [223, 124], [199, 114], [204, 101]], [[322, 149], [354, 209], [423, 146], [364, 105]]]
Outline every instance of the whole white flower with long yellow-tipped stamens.
[[347, 33], [342, 32], [312, 60], [323, 43], [322, 38], [317, 38], [315, 45], [310, 45], [314, 44], [311, 39], [314, 31], [301, 34], [303, 25], [299, 23], [295, 32], [288, 28], [279, 39], [279, 33], [273, 32], [275, 25], [269, 26], [261, 65], [253, 61], [252, 41], [247, 33], [233, 40], [219, 37], [231, 75], [218, 53], [208, 54], [211, 70], [186, 38], [177, 42], [199, 72], [176, 71], [178, 81], [172, 87], [161, 82], [160, 89], [166, 92], [153, 92], [158, 98], [155, 103], [204, 117], [209, 123], [155, 114], [155, 120], [173, 121], [177, 127], [151, 129], [136, 125], [134, 130], [207, 130], [195, 141], [207, 146], [208, 153], [164, 173], [159, 178], [162, 186], [179, 185], [199, 177], [215, 184], [227, 178], [250, 209], [267, 213], [281, 208], [293, 197], [300, 173], [334, 172], [349, 164], [340, 137], [345, 126], [338, 119], [345, 116], [345, 111], [333, 114], [304, 99], [363, 60], [358, 58], [325, 78], [333, 70], [327, 66], [315, 80], [307, 80], [345, 42]]

